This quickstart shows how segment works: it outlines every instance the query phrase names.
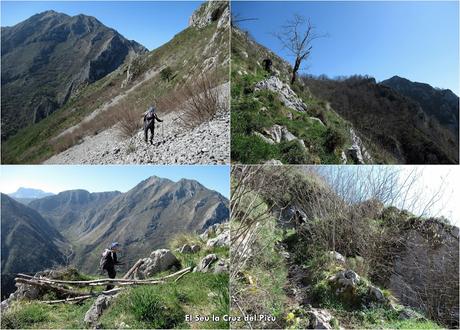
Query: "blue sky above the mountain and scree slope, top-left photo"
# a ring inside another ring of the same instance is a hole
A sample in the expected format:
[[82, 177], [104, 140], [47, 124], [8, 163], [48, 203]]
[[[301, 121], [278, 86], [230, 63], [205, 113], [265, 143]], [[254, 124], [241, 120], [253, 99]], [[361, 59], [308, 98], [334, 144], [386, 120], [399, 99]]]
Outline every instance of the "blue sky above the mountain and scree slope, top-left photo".
[[203, 1], [1, 1], [1, 26], [12, 26], [30, 16], [54, 10], [85, 14], [149, 50], [161, 46], [185, 29]]

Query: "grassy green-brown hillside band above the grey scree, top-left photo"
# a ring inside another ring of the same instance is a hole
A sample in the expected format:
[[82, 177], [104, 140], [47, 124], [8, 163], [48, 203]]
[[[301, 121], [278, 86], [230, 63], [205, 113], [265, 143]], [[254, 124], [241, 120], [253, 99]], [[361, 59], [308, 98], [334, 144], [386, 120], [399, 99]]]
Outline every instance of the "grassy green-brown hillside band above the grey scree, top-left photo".
[[[220, 82], [226, 81], [228, 42], [228, 29], [218, 29], [217, 22], [203, 28], [188, 27], [158, 49], [134, 58], [83, 88], [63, 108], [9, 138], [2, 144], [2, 162], [41, 162], [78, 143], [86, 135], [97, 134], [113, 126], [128, 112], [139, 113], [140, 116], [155, 100], [167, 98], [175, 88], [193, 81], [203, 70], [211, 70], [209, 58], [215, 57], [216, 76]], [[171, 70], [169, 79], [160, 74], [165, 68]], [[122, 94], [126, 95], [110, 103]], [[103, 105], [107, 111], [79, 129], [59, 136]], [[160, 112], [171, 110], [162, 109], [161, 105], [158, 108]]]

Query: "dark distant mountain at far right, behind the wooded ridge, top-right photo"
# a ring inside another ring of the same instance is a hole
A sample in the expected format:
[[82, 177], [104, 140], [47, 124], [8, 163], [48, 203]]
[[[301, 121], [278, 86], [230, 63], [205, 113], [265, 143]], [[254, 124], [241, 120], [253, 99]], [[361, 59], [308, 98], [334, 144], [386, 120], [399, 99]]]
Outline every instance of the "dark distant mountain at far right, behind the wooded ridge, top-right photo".
[[430, 117], [448, 128], [458, 139], [458, 96], [449, 89], [433, 88], [428, 84], [412, 82], [394, 76], [380, 82], [417, 102]]

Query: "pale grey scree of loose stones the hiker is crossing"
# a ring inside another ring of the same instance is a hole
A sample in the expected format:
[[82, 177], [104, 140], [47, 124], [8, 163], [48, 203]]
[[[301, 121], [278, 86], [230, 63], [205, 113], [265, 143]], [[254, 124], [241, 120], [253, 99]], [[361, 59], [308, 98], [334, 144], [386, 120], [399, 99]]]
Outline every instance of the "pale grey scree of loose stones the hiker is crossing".
[[[229, 84], [218, 87], [223, 99]], [[181, 127], [180, 112], [159, 113], [153, 145], [145, 143], [139, 130], [123, 138], [116, 126], [97, 135], [87, 136], [77, 144], [46, 160], [45, 164], [226, 164], [230, 156], [230, 112], [228, 108], [214, 118], [186, 130]]]

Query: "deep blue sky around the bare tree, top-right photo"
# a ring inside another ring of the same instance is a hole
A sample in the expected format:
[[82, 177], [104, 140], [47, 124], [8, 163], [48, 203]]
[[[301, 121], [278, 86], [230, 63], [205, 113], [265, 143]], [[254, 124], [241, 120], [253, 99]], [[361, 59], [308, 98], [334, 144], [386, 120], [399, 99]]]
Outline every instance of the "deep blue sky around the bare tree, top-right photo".
[[285, 58], [271, 33], [294, 13], [310, 17], [329, 36], [314, 42], [307, 73], [399, 75], [459, 94], [458, 1], [235, 1], [232, 10], [258, 18], [241, 27]]

